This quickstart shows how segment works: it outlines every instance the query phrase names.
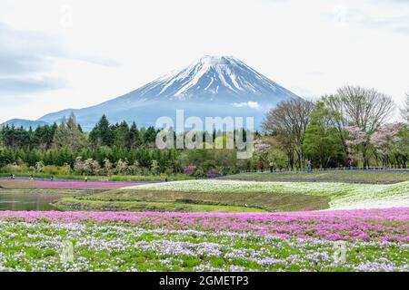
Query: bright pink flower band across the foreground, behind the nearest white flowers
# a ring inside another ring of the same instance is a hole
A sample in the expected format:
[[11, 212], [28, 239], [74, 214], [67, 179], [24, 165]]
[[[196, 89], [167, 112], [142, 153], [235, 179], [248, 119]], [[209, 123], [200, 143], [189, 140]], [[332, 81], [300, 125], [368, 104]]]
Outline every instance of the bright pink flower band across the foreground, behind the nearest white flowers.
[[273, 237], [409, 243], [409, 208], [292, 213], [4, 211], [0, 219], [55, 223], [130, 223], [136, 227], [246, 232]]

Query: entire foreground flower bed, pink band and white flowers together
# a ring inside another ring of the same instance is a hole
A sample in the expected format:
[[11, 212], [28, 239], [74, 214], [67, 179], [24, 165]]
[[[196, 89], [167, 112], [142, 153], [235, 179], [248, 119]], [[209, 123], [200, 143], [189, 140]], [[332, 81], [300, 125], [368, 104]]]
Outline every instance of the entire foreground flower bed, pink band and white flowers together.
[[[0, 212], [0, 271], [409, 271], [408, 233], [409, 208], [268, 214], [5, 211]], [[62, 260], [67, 245], [73, 256]]]

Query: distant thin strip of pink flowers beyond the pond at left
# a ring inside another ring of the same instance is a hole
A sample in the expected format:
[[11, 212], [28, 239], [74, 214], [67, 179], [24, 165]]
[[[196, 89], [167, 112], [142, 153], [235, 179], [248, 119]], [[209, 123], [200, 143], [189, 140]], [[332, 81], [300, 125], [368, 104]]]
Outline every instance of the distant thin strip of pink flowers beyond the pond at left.
[[109, 181], [32, 181], [31, 188], [35, 189], [121, 189], [139, 185], [132, 182]]

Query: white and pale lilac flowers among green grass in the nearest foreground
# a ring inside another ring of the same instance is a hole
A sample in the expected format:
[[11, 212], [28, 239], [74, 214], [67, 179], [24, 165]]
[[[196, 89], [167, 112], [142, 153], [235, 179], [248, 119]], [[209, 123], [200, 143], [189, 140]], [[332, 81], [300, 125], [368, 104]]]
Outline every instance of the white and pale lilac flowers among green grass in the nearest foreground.
[[[62, 260], [66, 242], [73, 259]], [[0, 271], [409, 271], [409, 245], [131, 224], [0, 221]], [[342, 256], [342, 254], [341, 254]]]

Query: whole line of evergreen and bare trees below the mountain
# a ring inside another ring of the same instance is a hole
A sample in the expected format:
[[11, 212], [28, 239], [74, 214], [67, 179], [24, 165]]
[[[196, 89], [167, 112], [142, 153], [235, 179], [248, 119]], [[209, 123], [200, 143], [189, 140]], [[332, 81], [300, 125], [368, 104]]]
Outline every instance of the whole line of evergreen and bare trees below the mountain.
[[[279, 103], [256, 132], [254, 156], [237, 160], [236, 150], [157, 150], [155, 127], [103, 116], [85, 132], [75, 116], [59, 124], [25, 130], [0, 129], [0, 168], [4, 172], [49, 174], [155, 175], [185, 173], [196, 177], [266, 168], [406, 168], [409, 162], [409, 94], [402, 122], [388, 122], [392, 99], [374, 89], [346, 86], [318, 101]], [[204, 133], [209, 134], [209, 133]], [[213, 141], [217, 141], [213, 132]], [[205, 138], [204, 138], [205, 140]]]

